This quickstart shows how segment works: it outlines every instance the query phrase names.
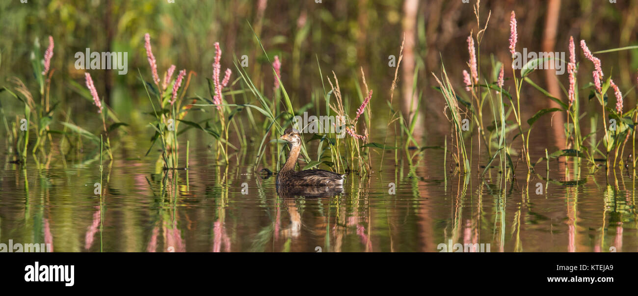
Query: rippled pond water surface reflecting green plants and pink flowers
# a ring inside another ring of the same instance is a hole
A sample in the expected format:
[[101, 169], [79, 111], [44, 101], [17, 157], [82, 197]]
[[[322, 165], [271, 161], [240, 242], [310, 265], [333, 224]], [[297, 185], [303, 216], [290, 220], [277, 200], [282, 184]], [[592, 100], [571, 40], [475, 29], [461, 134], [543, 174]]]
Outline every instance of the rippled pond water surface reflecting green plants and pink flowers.
[[56, 252], [436, 252], [450, 240], [491, 252], [638, 251], [636, 182], [626, 170], [605, 177], [581, 165], [576, 178], [574, 163], [553, 161], [547, 175], [543, 162], [527, 181], [521, 164], [503, 188], [498, 168], [450, 174], [440, 149], [412, 166], [395, 166], [389, 151], [382, 170], [374, 152], [373, 173], [349, 174], [342, 193], [290, 196], [253, 171], [252, 148], [219, 165], [207, 143], [191, 142], [189, 170], [154, 174], [147, 144], [126, 146], [103, 172], [88, 147], [82, 161], [54, 152], [21, 166], [5, 156], [0, 242]]

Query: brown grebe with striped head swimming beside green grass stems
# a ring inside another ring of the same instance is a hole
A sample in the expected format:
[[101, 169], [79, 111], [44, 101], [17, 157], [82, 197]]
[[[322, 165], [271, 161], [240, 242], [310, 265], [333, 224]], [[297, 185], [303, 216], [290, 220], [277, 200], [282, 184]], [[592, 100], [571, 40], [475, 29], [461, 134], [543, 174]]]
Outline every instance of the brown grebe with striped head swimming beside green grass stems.
[[283, 168], [277, 174], [277, 186], [341, 186], [345, 175], [339, 175], [327, 170], [302, 170], [295, 172], [295, 164], [301, 150], [301, 136], [299, 131], [286, 129], [281, 135], [290, 145], [290, 153]]

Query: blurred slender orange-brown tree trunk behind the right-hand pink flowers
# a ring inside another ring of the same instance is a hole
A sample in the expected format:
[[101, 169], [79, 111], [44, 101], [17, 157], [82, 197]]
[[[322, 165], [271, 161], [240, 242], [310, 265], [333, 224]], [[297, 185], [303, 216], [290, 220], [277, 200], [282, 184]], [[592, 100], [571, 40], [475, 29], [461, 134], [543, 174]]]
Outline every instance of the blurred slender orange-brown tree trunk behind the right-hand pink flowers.
[[[545, 13], [545, 31], [543, 33], [543, 51], [554, 52], [556, 47], [556, 34], [558, 33], [558, 18], [560, 17], [560, 3], [561, 0], [549, 0], [547, 2], [547, 13]], [[558, 57], [555, 57], [558, 58]], [[563, 66], [567, 66], [563, 64]], [[554, 69], [554, 67], [551, 67]], [[545, 85], [547, 85], [547, 91], [552, 96], [560, 99], [561, 89], [558, 84], [558, 77], [556, 77], [556, 70], [545, 69]], [[558, 103], [547, 100], [550, 108], [560, 108]], [[559, 149], [565, 149], [565, 119], [562, 114], [557, 114], [552, 117], [552, 129], [554, 130], [554, 145]]]

